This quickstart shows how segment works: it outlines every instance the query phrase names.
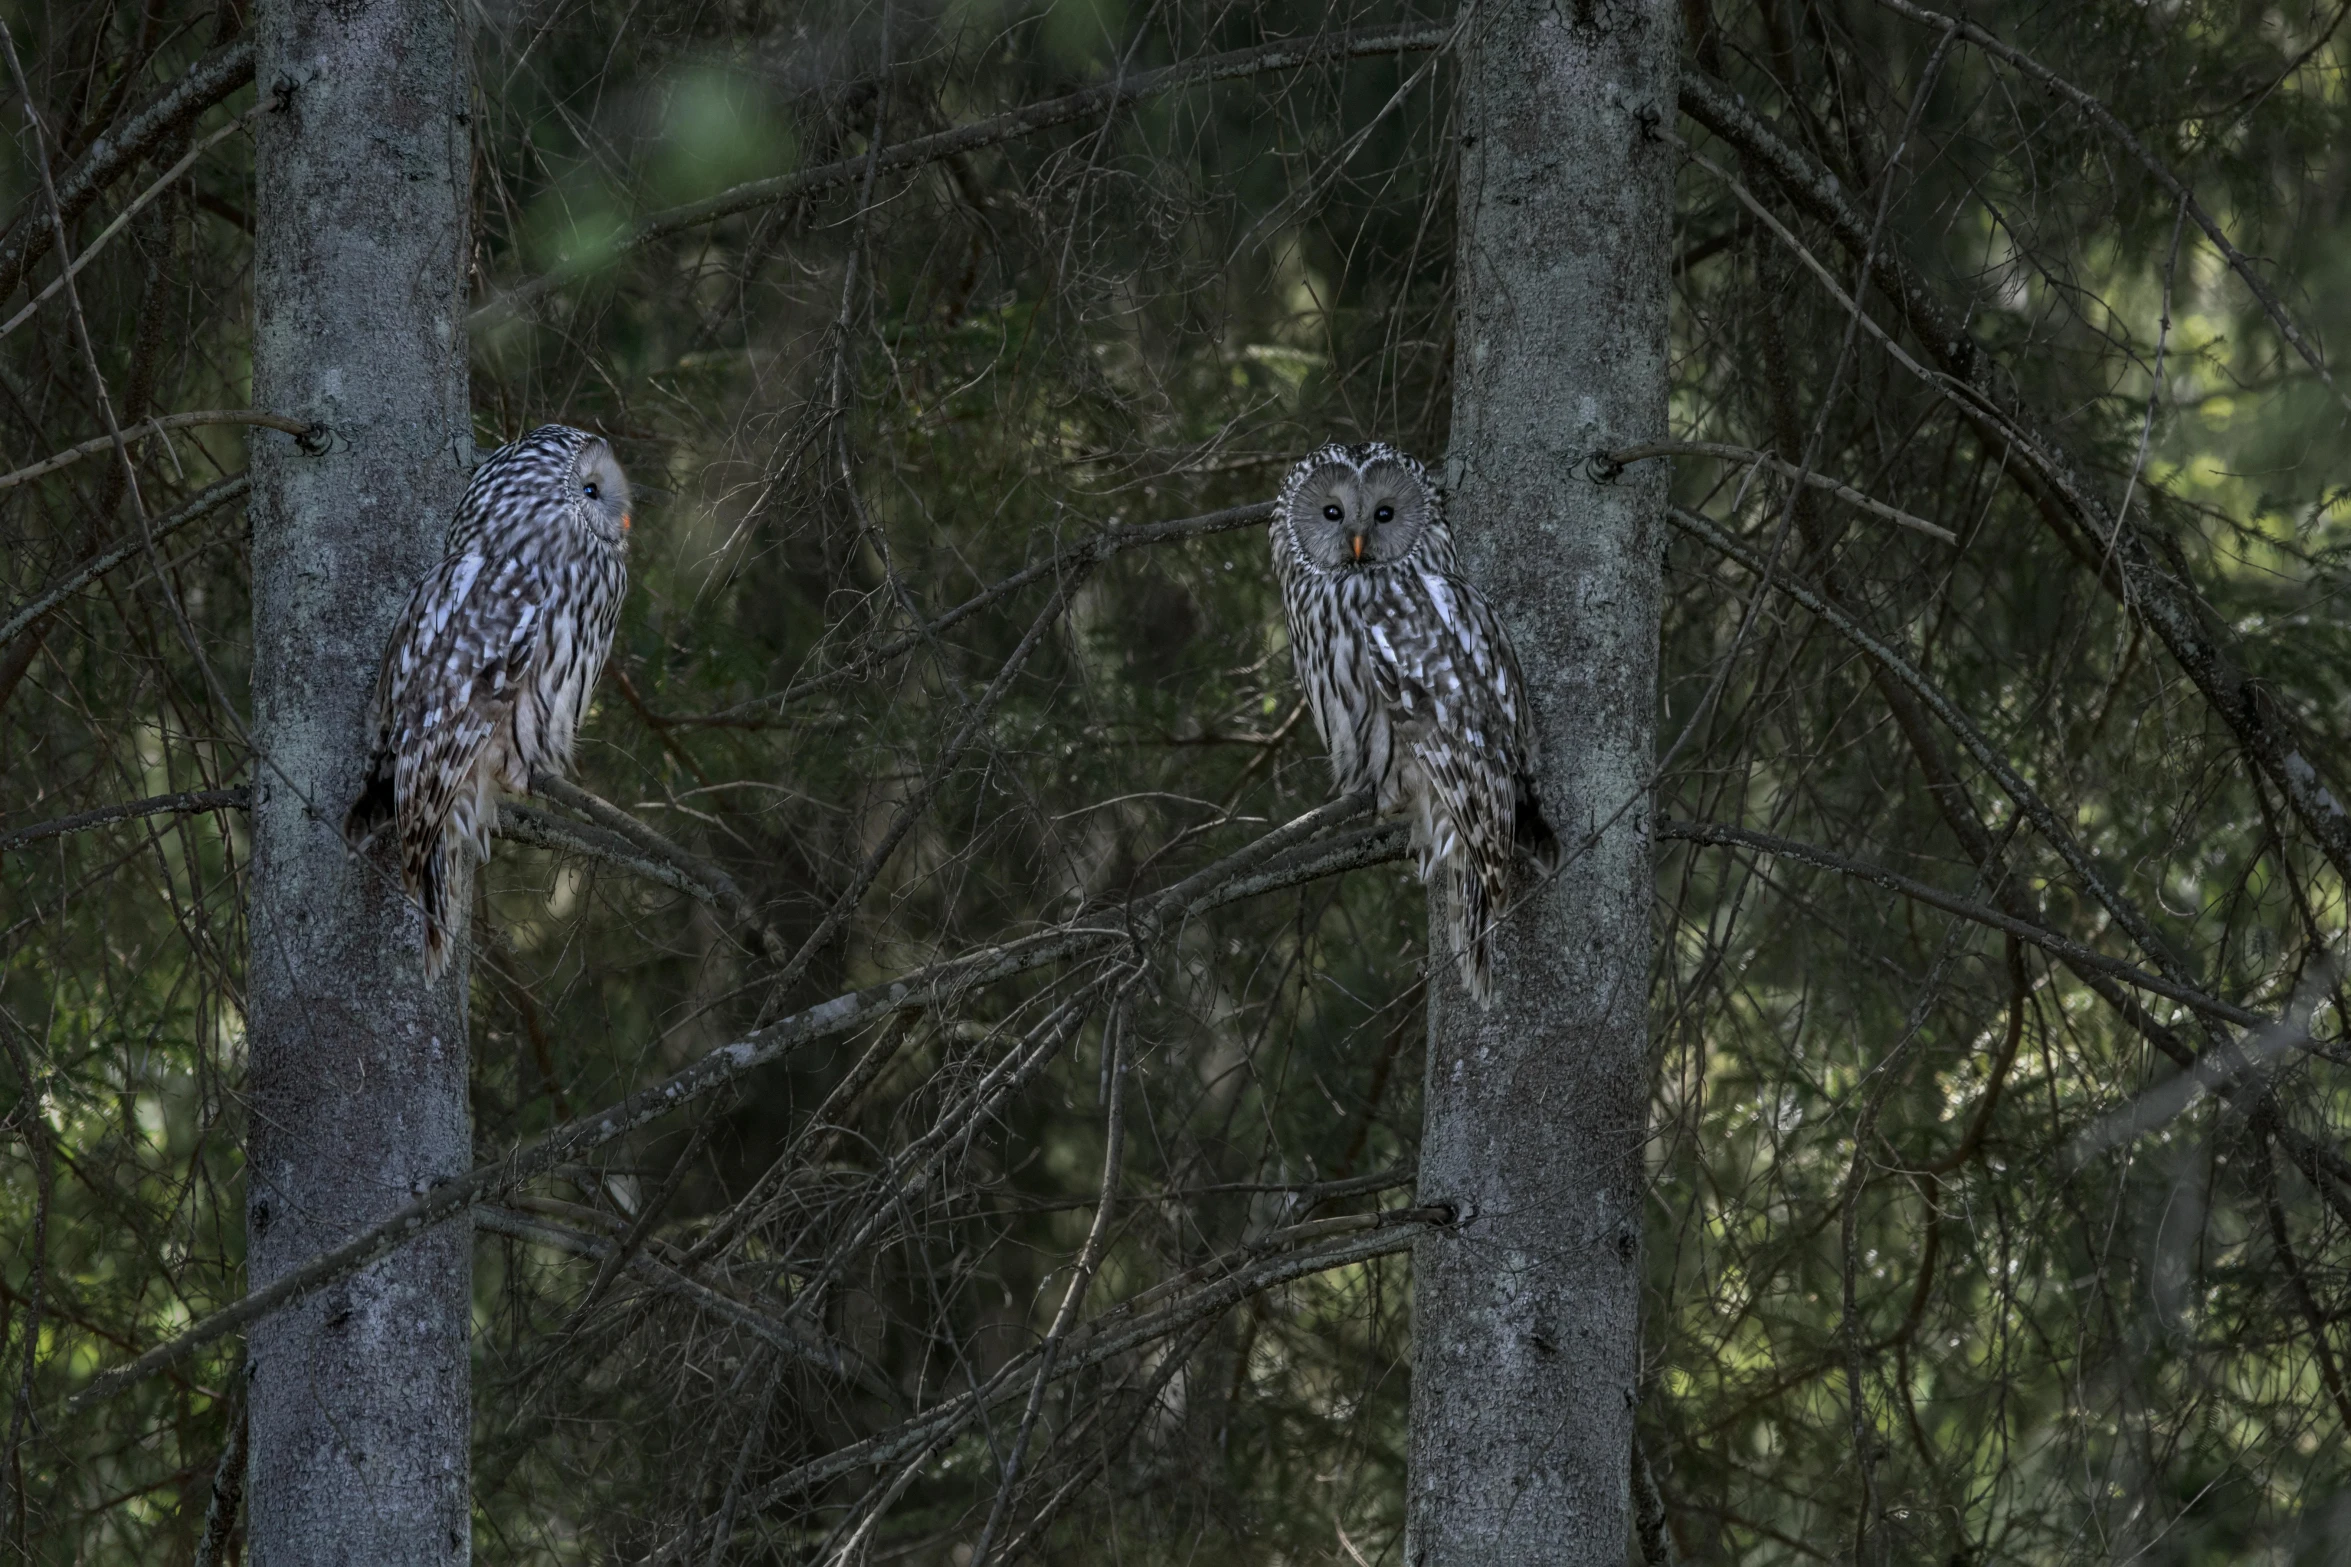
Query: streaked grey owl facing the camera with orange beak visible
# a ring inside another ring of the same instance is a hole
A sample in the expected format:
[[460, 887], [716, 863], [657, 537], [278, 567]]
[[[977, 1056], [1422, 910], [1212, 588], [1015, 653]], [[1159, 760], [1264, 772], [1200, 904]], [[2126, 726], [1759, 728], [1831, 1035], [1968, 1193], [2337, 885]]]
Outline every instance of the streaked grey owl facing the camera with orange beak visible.
[[1324, 446], [1270, 526], [1291, 655], [1340, 794], [1413, 827], [1462, 987], [1493, 1006], [1493, 926], [1521, 865], [1559, 867], [1535, 799], [1519, 655], [1453, 564], [1444, 496], [1382, 442]]

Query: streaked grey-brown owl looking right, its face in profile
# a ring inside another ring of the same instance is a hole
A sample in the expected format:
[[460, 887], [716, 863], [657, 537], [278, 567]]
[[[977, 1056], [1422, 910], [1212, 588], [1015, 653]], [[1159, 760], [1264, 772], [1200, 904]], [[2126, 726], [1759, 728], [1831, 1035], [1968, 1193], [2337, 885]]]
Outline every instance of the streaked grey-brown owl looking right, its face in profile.
[[442, 561], [409, 594], [376, 672], [367, 785], [343, 820], [390, 827], [426, 914], [426, 977], [449, 966], [449, 855], [489, 860], [498, 792], [571, 766], [628, 590], [628, 477], [585, 430], [541, 425], [484, 460]]

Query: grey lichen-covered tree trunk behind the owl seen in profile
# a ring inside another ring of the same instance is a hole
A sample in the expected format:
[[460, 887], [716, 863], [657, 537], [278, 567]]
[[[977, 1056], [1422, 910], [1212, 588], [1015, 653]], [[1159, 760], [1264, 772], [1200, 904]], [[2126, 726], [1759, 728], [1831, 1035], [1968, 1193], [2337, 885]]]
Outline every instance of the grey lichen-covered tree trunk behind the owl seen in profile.
[[[376, 658], [473, 456], [463, 9], [259, 7], [254, 402], [334, 437], [252, 456], [254, 1287], [473, 1163], [465, 966], [426, 987], [418, 914], [341, 839]], [[254, 1327], [259, 1567], [470, 1558], [470, 1280], [449, 1224]]]

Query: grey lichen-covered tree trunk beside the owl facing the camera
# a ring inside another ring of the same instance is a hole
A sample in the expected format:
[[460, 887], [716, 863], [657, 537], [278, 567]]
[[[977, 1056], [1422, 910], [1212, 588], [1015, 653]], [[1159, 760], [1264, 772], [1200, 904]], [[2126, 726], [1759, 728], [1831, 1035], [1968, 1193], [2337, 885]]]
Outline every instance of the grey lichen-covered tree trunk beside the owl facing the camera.
[[1432, 961], [1411, 1567], [1622, 1567], [1641, 1351], [1650, 813], [1674, 153], [1672, 0], [1505, 2], [1460, 63], [1448, 489], [1526, 663], [1566, 869], [1495, 1008]]

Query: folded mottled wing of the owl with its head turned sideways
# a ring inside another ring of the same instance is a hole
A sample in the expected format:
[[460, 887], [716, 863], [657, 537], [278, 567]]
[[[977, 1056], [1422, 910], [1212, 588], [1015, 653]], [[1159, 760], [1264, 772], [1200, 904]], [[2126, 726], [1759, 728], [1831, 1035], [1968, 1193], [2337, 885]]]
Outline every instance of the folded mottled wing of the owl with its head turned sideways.
[[545, 587], [517, 557], [463, 550], [409, 597], [383, 655], [383, 728], [395, 764], [400, 839], [430, 853], [461, 789], [531, 667]]

